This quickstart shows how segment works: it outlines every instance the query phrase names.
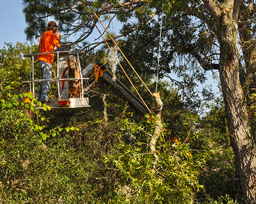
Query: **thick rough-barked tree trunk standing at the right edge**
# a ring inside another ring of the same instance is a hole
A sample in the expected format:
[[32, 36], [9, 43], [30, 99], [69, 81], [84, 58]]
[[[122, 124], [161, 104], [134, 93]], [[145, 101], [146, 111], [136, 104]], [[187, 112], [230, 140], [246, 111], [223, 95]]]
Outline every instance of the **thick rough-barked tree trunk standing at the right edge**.
[[220, 43], [220, 81], [224, 97], [231, 145], [245, 201], [256, 203], [256, 151], [250, 135], [245, 93], [239, 79], [237, 26], [222, 12], [218, 23]]

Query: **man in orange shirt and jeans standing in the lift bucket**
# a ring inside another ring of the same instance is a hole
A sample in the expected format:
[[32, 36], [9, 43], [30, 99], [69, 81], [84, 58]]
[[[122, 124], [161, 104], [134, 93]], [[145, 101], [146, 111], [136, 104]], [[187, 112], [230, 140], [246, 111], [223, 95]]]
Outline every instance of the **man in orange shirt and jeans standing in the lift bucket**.
[[[60, 32], [57, 30], [56, 22], [49, 22], [46, 31], [40, 37], [39, 53], [53, 52], [55, 46], [60, 48], [60, 37]], [[54, 53], [37, 55], [37, 61], [39, 62], [39, 68], [41, 72], [41, 79], [51, 79], [53, 59]], [[41, 82], [39, 92], [37, 93], [37, 101], [41, 101], [41, 103], [50, 103], [50, 88], [50, 81]]]

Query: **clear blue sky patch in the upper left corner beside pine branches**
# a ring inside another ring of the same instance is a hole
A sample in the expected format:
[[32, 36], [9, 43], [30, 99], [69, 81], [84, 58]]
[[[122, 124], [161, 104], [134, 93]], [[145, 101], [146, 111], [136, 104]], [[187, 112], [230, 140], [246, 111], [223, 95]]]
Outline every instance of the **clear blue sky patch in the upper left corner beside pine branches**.
[[0, 0], [0, 49], [5, 43], [25, 42], [22, 0]]

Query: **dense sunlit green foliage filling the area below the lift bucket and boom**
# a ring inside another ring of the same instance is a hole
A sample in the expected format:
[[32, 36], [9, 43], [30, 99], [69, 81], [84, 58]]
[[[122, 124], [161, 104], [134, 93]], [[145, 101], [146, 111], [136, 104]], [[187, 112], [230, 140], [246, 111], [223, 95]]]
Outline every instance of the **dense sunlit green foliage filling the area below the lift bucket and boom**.
[[7, 46], [0, 75], [1, 203], [243, 203], [222, 101], [201, 118], [162, 84], [165, 142], [161, 136], [155, 161], [154, 118], [139, 117], [104, 82], [89, 108], [36, 110], [24, 103], [32, 96], [21, 94], [28, 65], [22, 55], [38, 48]]

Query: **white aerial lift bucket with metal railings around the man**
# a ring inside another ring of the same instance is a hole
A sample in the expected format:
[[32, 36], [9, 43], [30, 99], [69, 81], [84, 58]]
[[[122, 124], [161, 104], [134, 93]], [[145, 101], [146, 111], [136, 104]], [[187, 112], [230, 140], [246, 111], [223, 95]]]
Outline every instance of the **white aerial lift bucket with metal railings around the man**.
[[[71, 46], [63, 45], [54, 52], [57, 55], [57, 76], [54, 79], [48, 81], [57, 83], [58, 96], [56, 99], [49, 99], [50, 103], [47, 103], [51, 108], [79, 108], [89, 107], [88, 97], [84, 97], [83, 81], [89, 80], [89, 78], [82, 77], [81, 65], [79, 61], [79, 54], [84, 54], [81, 51], [70, 51], [67, 48]], [[35, 96], [35, 83], [46, 81], [43, 79], [34, 79], [34, 61], [37, 54], [24, 55], [24, 57], [30, 58], [30, 80], [25, 83], [30, 84], [30, 92]], [[85, 83], [86, 84], [86, 83]], [[42, 108], [42, 107], [36, 107]]]

